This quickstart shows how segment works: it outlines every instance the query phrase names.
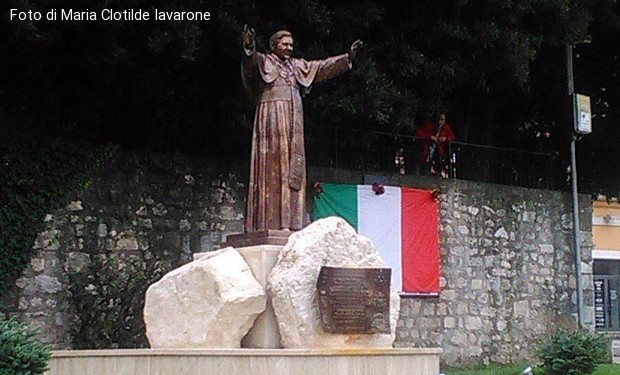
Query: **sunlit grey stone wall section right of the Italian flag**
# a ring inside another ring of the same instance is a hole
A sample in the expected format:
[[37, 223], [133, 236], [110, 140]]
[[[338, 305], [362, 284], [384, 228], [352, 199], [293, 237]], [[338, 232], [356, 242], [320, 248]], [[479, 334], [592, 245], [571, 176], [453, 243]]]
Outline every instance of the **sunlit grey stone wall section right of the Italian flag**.
[[[404, 301], [399, 345], [442, 346], [448, 364], [531, 358], [541, 337], [574, 321], [569, 196], [462, 182], [443, 191], [442, 293]], [[591, 222], [591, 204], [581, 207]], [[589, 227], [582, 238], [584, 323], [592, 325]]]

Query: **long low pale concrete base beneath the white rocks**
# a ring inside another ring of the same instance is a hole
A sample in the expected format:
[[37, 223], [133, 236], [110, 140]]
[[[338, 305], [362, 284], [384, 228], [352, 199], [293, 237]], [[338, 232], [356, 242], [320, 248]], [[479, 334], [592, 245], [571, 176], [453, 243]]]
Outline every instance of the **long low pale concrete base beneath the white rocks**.
[[439, 348], [53, 351], [46, 375], [437, 375]]

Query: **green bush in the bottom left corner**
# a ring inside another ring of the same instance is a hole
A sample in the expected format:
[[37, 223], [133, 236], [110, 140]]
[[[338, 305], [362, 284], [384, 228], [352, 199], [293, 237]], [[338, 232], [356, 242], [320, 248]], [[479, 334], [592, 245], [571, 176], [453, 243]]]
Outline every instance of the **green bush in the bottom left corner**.
[[48, 370], [50, 348], [37, 341], [36, 333], [15, 319], [0, 321], [0, 374], [35, 375]]

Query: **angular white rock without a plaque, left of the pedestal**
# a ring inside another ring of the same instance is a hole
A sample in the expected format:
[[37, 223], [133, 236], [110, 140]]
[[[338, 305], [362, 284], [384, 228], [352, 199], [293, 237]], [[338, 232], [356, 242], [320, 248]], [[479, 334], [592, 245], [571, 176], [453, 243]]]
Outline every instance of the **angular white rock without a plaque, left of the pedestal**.
[[146, 335], [151, 348], [238, 348], [266, 301], [237, 250], [214, 251], [149, 287]]

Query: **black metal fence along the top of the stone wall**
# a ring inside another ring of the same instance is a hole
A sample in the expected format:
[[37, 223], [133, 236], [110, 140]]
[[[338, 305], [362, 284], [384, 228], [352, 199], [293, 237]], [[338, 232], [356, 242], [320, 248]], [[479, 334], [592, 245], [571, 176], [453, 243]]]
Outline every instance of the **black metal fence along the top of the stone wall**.
[[[333, 129], [307, 139], [309, 165], [374, 172], [427, 174], [424, 141], [409, 135]], [[449, 178], [529, 188], [559, 189], [560, 166], [551, 154], [450, 142]]]

